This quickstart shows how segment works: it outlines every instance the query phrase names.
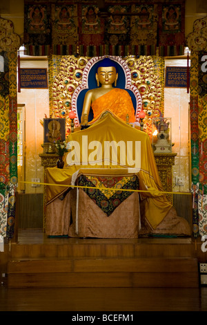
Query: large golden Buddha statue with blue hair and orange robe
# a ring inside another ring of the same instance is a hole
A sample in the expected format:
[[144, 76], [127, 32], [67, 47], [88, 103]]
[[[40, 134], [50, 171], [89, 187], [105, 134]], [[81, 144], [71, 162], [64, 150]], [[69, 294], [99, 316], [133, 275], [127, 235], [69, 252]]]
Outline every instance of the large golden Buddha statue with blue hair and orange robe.
[[[87, 91], [81, 115], [81, 124], [86, 124], [90, 107], [94, 118], [88, 124], [96, 122], [104, 111], [109, 111], [117, 118], [126, 122], [135, 122], [135, 109], [129, 93], [124, 89], [115, 88], [117, 85], [117, 68], [113, 60], [105, 58], [99, 62], [97, 73], [97, 88]], [[115, 87], [113, 87], [115, 84]]]

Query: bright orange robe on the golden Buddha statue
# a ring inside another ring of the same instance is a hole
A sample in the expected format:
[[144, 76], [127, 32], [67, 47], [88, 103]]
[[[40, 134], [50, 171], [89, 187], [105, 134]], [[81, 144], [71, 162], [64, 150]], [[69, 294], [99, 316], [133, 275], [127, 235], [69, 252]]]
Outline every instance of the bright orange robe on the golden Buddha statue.
[[97, 121], [104, 111], [110, 111], [124, 122], [126, 122], [126, 115], [128, 114], [128, 122], [135, 122], [135, 109], [129, 93], [124, 89], [112, 89], [92, 102], [91, 107], [94, 118], [90, 124]]

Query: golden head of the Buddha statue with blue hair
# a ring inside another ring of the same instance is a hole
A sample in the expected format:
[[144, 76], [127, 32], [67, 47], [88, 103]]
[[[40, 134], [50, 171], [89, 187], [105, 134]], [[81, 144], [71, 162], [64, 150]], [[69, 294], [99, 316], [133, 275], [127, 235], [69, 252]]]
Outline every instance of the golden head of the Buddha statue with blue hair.
[[100, 83], [102, 85], [111, 86], [113, 83], [115, 83], [116, 86], [117, 78], [118, 73], [115, 62], [108, 57], [101, 60], [97, 67], [96, 73], [97, 85], [99, 86]]

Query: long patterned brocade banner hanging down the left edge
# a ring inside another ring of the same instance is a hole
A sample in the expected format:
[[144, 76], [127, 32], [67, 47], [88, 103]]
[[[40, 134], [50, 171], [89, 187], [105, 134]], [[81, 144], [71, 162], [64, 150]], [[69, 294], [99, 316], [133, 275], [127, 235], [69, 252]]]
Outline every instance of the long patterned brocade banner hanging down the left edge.
[[17, 53], [8, 53], [8, 57], [10, 95], [3, 98], [0, 93], [0, 234], [12, 239], [17, 187]]

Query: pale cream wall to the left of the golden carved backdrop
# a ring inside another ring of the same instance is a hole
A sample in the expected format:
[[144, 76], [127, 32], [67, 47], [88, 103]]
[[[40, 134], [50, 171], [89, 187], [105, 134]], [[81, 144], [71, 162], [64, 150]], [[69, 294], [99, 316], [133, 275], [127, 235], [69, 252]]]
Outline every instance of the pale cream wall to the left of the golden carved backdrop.
[[[46, 59], [21, 60], [21, 68], [48, 68]], [[45, 114], [49, 116], [49, 92], [48, 89], [21, 89], [17, 93], [18, 104], [25, 104], [26, 113], [26, 182], [32, 178], [40, 178], [43, 183], [43, 167], [39, 154], [43, 152], [43, 120]], [[43, 185], [32, 187], [26, 184], [26, 193], [43, 193]]]

